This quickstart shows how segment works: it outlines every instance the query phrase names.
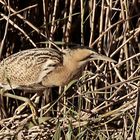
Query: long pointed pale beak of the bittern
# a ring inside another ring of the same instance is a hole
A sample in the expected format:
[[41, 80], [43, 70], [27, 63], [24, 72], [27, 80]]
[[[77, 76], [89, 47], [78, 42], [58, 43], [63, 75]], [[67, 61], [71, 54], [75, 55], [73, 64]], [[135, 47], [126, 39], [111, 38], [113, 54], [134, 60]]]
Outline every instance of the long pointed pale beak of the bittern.
[[90, 60], [91, 60], [91, 61], [92, 61], [92, 60], [104, 60], [104, 61], [116, 63], [116, 61], [113, 60], [113, 59], [111, 59], [110, 57], [107, 57], [107, 56], [105, 56], [105, 55], [101, 55], [101, 54], [98, 54], [98, 53], [92, 54]]

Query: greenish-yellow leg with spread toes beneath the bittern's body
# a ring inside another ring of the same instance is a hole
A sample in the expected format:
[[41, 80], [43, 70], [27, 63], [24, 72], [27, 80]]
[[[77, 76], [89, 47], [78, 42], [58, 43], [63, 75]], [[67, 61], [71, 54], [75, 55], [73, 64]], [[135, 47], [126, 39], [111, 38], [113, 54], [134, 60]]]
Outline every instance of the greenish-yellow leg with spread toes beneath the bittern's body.
[[17, 100], [21, 100], [21, 101], [24, 101], [25, 102], [24, 104], [20, 105], [16, 109], [15, 114], [19, 114], [27, 105], [29, 105], [33, 116], [36, 116], [37, 115], [37, 111], [35, 109], [35, 105], [28, 98], [10, 94], [10, 93], [4, 91], [4, 89], [2, 89], [2, 91], [0, 92], [0, 94], [2, 96], [5, 96], [5, 97], [9, 97], [9, 98], [13, 98], [13, 99], [17, 99]]

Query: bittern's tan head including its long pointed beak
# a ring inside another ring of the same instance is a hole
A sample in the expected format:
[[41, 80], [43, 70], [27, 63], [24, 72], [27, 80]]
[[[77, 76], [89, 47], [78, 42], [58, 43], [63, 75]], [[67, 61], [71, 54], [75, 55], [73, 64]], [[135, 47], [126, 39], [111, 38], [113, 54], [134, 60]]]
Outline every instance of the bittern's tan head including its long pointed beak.
[[115, 62], [115, 60], [98, 54], [95, 51], [93, 51], [92, 49], [88, 49], [88, 48], [76, 48], [76, 49], [72, 49], [69, 52], [69, 55], [72, 59], [74, 59], [75, 61], [81, 63], [81, 64], [86, 64], [89, 61], [93, 61], [93, 60], [104, 60], [104, 61], [108, 61], [108, 62]]

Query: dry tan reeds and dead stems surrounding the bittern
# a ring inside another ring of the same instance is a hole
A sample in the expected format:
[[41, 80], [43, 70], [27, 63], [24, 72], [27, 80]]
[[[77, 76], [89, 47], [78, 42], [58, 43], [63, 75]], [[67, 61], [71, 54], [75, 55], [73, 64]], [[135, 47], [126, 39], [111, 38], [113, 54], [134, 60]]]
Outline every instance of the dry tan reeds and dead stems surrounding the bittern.
[[117, 61], [91, 62], [78, 81], [38, 98], [14, 91], [38, 102], [36, 122], [29, 108], [15, 114], [23, 102], [1, 95], [0, 139], [140, 139], [139, 7], [137, 0], [0, 0], [1, 60], [55, 43], [87, 46]]

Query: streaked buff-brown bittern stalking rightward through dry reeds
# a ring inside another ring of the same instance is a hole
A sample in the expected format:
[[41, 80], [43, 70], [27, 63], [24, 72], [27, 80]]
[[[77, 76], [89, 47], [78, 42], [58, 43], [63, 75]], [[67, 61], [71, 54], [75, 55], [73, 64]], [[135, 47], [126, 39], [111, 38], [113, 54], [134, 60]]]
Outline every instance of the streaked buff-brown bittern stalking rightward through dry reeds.
[[[80, 70], [92, 60], [115, 62], [88, 48], [65, 51], [52, 48], [24, 50], [1, 61], [0, 87], [4, 90], [40, 91], [47, 87], [64, 86], [78, 78]], [[10, 94], [7, 96], [14, 98]]]

